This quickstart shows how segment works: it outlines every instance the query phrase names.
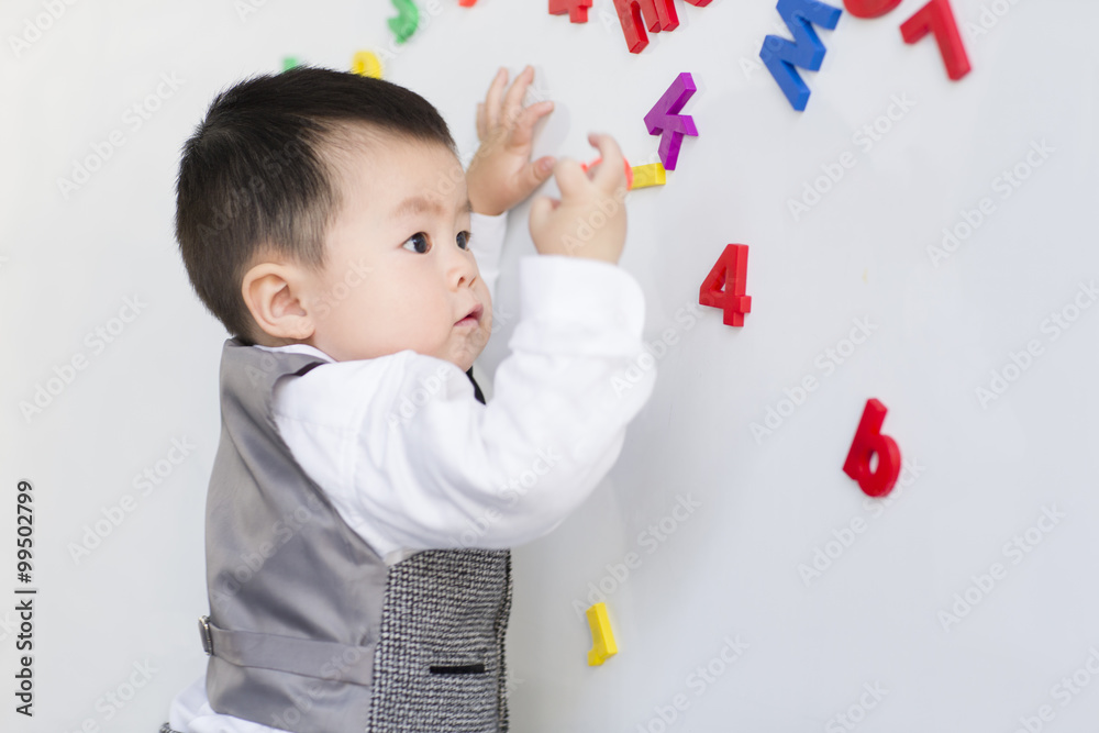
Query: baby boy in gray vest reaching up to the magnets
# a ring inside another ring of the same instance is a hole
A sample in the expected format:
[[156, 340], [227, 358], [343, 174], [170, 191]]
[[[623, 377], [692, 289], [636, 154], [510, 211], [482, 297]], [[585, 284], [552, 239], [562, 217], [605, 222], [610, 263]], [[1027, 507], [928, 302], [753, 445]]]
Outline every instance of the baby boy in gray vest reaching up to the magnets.
[[[551, 102], [501, 69], [463, 170], [397, 85], [299, 67], [218, 95], [187, 141], [176, 235], [231, 337], [207, 495], [207, 670], [162, 731], [508, 729], [510, 547], [607, 475], [656, 374], [617, 265], [622, 153], [531, 162]], [[486, 403], [507, 212], [530, 214], [511, 354]], [[463, 374], [465, 373], [465, 374]]]

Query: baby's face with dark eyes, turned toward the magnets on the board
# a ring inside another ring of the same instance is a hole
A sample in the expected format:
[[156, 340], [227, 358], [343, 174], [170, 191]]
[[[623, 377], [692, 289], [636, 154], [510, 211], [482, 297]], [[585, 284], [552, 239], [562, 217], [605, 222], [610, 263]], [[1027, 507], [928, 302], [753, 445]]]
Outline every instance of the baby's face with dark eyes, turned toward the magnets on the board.
[[467, 370], [491, 333], [492, 301], [466, 248], [460, 163], [443, 145], [387, 135], [351, 168], [311, 288], [308, 343], [338, 362], [411, 348]]

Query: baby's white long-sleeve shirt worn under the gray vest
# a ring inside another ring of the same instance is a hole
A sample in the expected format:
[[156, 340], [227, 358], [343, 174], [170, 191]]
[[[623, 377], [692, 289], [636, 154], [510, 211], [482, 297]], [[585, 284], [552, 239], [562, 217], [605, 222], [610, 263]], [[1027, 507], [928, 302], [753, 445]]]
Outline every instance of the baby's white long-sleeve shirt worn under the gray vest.
[[[507, 214], [474, 214], [490, 293]], [[614, 465], [656, 370], [641, 286], [615, 265], [536, 255], [519, 267], [520, 321], [481, 404], [456, 365], [411, 349], [328, 362], [275, 387], [275, 422], [340, 515], [392, 564], [428, 548], [502, 548], [550, 532]], [[266, 347], [260, 347], [266, 348]], [[214, 712], [203, 674], [176, 697], [181, 733], [277, 733]]]

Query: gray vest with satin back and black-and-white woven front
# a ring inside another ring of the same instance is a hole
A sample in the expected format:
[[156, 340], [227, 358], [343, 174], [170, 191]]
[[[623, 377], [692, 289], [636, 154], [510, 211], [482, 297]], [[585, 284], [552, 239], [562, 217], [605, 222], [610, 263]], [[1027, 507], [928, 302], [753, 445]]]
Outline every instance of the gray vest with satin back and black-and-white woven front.
[[275, 381], [322, 364], [235, 338], [222, 352], [199, 624], [210, 706], [295, 733], [507, 731], [510, 551], [387, 567], [275, 425]]

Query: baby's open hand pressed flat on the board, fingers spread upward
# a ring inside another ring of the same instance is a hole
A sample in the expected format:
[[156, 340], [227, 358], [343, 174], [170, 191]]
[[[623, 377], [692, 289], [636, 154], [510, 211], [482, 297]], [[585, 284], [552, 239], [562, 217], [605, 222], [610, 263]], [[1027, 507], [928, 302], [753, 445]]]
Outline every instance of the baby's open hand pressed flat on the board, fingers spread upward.
[[469, 201], [477, 213], [503, 213], [553, 173], [553, 156], [531, 162], [534, 124], [553, 111], [550, 101], [523, 107], [523, 95], [533, 79], [534, 68], [528, 66], [504, 95], [508, 70], [501, 68], [485, 101], [477, 103], [477, 138], [481, 144], [466, 170]]

